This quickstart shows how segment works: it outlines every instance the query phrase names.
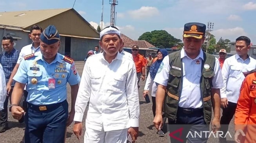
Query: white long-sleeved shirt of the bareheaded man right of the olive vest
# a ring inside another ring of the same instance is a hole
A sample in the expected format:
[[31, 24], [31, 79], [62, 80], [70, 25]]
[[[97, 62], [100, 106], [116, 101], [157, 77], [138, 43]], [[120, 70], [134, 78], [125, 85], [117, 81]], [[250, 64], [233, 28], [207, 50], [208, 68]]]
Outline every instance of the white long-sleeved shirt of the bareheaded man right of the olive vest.
[[256, 68], [256, 60], [248, 57], [245, 61], [238, 54], [225, 59], [222, 66], [224, 87], [220, 89], [220, 97], [227, 98], [229, 102], [237, 103], [240, 88], [245, 76], [243, 72]]

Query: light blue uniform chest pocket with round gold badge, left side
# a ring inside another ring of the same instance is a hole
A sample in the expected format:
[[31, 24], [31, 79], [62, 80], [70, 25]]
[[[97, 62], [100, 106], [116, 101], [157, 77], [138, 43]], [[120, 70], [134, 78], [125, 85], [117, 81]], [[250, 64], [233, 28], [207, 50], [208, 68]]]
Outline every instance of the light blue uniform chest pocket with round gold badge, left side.
[[[43, 85], [42, 82], [42, 71], [27, 71], [28, 88], [36, 88], [39, 84]], [[31, 81], [33, 79], [33, 82]], [[36, 82], [35, 82], [36, 81]]]

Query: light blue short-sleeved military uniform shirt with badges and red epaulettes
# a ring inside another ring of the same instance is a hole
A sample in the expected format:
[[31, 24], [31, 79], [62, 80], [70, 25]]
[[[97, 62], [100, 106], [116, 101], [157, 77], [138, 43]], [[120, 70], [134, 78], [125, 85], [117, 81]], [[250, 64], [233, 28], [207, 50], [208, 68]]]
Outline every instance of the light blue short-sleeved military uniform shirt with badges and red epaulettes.
[[[71, 86], [78, 84], [80, 76], [74, 63], [67, 63], [63, 59], [64, 56], [58, 53], [51, 64], [45, 62], [42, 54], [22, 60], [13, 79], [27, 84], [27, 102], [34, 105], [48, 105], [66, 100], [67, 82]], [[37, 83], [33, 84], [32, 79], [36, 79]], [[54, 89], [48, 87], [51, 86], [49, 79], [55, 80]]]

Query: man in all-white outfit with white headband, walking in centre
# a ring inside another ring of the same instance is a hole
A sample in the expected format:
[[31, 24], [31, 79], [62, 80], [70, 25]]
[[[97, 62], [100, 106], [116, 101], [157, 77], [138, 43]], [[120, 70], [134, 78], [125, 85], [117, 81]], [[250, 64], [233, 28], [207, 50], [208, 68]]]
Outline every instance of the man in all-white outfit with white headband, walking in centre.
[[84, 66], [73, 132], [80, 139], [84, 111], [90, 100], [85, 143], [126, 143], [127, 134], [135, 141], [140, 115], [135, 65], [118, 52], [122, 39], [116, 27], [103, 29], [99, 43], [104, 52], [91, 56]]

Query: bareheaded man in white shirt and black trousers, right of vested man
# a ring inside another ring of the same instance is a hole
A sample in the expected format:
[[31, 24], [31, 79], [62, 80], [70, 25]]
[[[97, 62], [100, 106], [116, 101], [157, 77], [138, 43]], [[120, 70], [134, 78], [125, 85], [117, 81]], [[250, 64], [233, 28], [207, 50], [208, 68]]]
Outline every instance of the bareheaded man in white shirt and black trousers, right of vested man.
[[[240, 94], [240, 88], [247, 72], [256, 68], [256, 60], [247, 54], [251, 40], [246, 36], [236, 39], [236, 54], [227, 58], [222, 66], [224, 87], [221, 88], [221, 105], [223, 107], [220, 119], [220, 130], [226, 134], [229, 123], [236, 111], [236, 104]], [[226, 138], [220, 138], [220, 142], [227, 142]]]

